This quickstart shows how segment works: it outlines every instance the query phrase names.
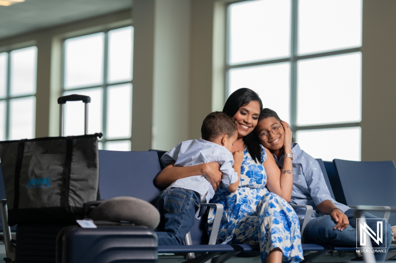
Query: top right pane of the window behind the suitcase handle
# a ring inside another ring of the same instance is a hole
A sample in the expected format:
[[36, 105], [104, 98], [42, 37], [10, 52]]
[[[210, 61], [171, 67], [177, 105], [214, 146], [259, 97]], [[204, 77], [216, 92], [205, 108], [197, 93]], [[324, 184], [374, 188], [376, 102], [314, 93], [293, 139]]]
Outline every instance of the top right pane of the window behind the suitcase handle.
[[114, 83], [132, 79], [132, 50], [133, 27], [109, 31], [108, 82]]

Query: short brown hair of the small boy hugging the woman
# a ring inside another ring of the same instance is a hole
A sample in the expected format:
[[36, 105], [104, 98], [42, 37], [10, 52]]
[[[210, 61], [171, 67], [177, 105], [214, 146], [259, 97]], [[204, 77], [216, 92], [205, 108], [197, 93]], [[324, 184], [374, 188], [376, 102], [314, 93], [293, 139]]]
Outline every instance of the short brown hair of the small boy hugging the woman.
[[206, 141], [214, 140], [223, 134], [231, 137], [235, 132], [237, 132], [237, 125], [223, 112], [209, 113], [201, 126], [201, 137]]

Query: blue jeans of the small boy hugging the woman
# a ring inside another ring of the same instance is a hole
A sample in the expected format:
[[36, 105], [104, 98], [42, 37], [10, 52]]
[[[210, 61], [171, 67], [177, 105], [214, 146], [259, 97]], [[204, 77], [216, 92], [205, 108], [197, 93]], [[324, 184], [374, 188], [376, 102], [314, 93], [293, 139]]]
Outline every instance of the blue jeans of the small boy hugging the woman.
[[161, 216], [155, 229], [158, 245], [182, 245], [195, 223], [199, 194], [184, 188], [167, 188], [157, 197], [155, 206]]

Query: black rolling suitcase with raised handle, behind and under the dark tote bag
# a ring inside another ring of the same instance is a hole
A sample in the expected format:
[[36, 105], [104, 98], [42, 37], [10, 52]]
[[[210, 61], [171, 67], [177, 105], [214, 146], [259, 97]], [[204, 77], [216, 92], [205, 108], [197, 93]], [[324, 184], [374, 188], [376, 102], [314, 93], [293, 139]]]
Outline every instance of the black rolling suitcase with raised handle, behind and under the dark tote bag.
[[[67, 101], [85, 103], [85, 134], [88, 133], [88, 103], [91, 98], [82, 95], [60, 97], [59, 137], [63, 137], [63, 105]], [[99, 192], [98, 192], [99, 194]], [[76, 223], [74, 223], [77, 225]], [[16, 263], [55, 263], [56, 236], [59, 231], [73, 223], [21, 223], [16, 228]]]

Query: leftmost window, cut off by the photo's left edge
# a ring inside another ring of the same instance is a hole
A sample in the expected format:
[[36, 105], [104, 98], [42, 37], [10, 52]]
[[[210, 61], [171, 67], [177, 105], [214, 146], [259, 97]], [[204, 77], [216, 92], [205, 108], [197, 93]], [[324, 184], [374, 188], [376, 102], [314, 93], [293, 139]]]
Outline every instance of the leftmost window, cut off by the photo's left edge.
[[0, 141], [35, 137], [35, 46], [0, 53]]

